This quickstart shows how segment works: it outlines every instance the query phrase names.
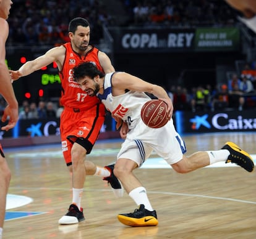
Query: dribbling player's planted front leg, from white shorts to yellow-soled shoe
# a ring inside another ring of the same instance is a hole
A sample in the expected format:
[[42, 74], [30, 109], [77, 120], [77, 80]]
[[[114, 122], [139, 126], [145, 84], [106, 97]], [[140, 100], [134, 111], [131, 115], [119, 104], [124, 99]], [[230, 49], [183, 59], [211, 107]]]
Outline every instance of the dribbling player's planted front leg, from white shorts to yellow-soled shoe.
[[[129, 150], [125, 150], [126, 147], [129, 147]], [[139, 207], [135, 209], [134, 213], [119, 214], [117, 218], [123, 224], [130, 226], [158, 225], [156, 211], [153, 210], [148, 200], [147, 190], [133, 173], [133, 170], [145, 160], [145, 158], [142, 160], [139, 148], [145, 155], [151, 152], [151, 149], [147, 150], [143, 148], [143, 144], [137, 147], [134, 141], [124, 143], [114, 166], [114, 174], [122, 182], [130, 198], [132, 198]], [[125, 157], [126, 155], [127, 157]]]

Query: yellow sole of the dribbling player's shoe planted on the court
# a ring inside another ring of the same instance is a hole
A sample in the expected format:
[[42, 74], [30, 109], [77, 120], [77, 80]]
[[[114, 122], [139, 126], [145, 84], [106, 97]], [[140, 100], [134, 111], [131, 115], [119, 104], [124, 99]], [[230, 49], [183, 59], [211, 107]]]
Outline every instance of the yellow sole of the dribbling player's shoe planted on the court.
[[127, 217], [124, 215], [117, 216], [119, 222], [130, 227], [148, 227], [158, 225], [158, 220], [155, 217], [147, 216], [142, 218]]

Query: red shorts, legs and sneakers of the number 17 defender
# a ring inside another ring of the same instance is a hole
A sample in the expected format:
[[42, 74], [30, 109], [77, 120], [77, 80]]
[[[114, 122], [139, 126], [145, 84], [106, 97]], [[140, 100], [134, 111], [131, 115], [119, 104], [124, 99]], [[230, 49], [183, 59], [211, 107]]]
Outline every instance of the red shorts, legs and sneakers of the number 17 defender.
[[[95, 114], [98, 115], [98, 114]], [[70, 119], [72, 122], [70, 122]], [[109, 177], [113, 185], [114, 174], [111, 169], [96, 167], [92, 162], [84, 163], [85, 157], [92, 151], [93, 145], [98, 138], [101, 126], [104, 122], [104, 116], [88, 116], [87, 112], [79, 112], [74, 115], [70, 111], [62, 113], [61, 139], [62, 152], [69, 169], [72, 170], [72, 187], [73, 202], [69, 207], [66, 215], [61, 217], [59, 224], [75, 224], [84, 220], [83, 209], [80, 207], [82, 198], [83, 185], [85, 182], [86, 172], [90, 175]], [[72, 168], [71, 168], [72, 165]], [[87, 167], [87, 170], [86, 170]], [[116, 188], [114, 190], [122, 190], [119, 181], [115, 180]]]

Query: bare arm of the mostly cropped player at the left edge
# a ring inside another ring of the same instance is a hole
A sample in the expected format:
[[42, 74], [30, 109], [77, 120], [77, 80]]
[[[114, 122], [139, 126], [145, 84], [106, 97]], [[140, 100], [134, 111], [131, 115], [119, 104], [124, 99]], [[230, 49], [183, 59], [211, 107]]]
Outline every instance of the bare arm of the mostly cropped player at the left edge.
[[9, 123], [2, 127], [2, 130], [8, 131], [14, 128], [19, 116], [19, 105], [14, 94], [12, 87], [9, 70], [6, 65], [6, 39], [9, 34], [9, 26], [3, 18], [0, 18], [0, 94], [7, 102], [7, 107], [4, 109], [4, 115], [2, 116], [2, 122], [7, 120], [9, 116]]

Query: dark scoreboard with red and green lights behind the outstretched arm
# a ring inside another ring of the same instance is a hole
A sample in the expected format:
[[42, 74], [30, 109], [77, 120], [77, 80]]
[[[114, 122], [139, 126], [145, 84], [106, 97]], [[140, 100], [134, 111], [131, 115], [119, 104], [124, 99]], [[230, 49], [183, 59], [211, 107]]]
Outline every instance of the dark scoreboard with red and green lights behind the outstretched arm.
[[[48, 49], [15, 49], [6, 51], [6, 63], [9, 69], [19, 70], [19, 68], [29, 60], [45, 54]], [[14, 91], [19, 103], [27, 99], [30, 102], [38, 102], [40, 98], [44, 100], [56, 101], [61, 96], [61, 79], [59, 78], [58, 67], [55, 62], [41, 68], [41, 70], [23, 76], [14, 81]]]

